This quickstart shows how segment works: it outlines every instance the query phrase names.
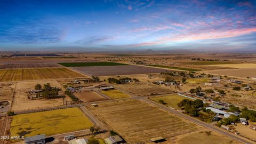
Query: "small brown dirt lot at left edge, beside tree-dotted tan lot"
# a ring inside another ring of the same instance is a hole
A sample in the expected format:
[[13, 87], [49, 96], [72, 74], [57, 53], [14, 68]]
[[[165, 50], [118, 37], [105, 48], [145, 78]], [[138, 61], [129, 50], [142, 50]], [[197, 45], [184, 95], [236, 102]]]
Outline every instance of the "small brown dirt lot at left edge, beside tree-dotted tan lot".
[[11, 101], [14, 87], [14, 83], [0, 84], [0, 100]]

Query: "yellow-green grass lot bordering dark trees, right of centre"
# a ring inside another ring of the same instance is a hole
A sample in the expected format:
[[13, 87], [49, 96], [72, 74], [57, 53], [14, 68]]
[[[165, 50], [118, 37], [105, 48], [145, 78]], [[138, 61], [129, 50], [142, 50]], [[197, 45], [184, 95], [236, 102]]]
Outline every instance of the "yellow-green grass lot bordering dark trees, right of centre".
[[155, 98], [150, 98], [151, 100], [153, 101], [156, 101], [159, 103], [159, 100], [163, 100], [167, 106], [170, 106], [172, 108], [175, 108], [175, 109], [180, 109], [178, 107], [178, 103], [183, 100], [183, 99], [188, 99], [188, 100], [193, 100], [193, 99], [189, 99], [189, 98], [186, 98], [186, 97], [182, 97], [180, 95], [168, 95], [168, 96], [163, 96], [163, 97], [155, 97]]

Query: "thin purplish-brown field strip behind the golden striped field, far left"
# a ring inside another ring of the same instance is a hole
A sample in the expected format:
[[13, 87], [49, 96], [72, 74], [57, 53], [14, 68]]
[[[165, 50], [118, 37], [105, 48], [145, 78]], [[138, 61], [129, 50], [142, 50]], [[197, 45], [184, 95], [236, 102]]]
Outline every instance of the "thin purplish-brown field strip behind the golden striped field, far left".
[[0, 69], [14, 69], [14, 68], [52, 68], [60, 67], [55, 63], [17, 63], [0, 65]]

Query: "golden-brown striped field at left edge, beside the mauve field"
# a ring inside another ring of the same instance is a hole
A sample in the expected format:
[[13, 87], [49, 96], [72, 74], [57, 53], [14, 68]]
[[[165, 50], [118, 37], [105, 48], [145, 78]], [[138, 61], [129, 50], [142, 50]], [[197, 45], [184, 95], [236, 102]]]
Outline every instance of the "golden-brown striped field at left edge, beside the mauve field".
[[0, 82], [71, 77], [83, 77], [83, 75], [67, 68], [33, 68], [0, 70]]

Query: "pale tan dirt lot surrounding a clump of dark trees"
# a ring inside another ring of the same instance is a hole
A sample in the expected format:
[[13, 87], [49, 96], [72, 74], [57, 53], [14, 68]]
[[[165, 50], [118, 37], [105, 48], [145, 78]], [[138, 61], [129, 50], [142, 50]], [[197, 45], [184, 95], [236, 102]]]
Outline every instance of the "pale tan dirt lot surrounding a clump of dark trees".
[[[26, 110], [26, 109], [36, 109], [43, 107], [53, 107], [63, 105], [62, 99], [28, 99], [27, 92], [34, 90], [36, 84], [41, 84], [42, 86], [46, 83], [50, 83], [51, 86], [59, 87], [62, 89], [59, 94], [65, 95], [65, 89], [57, 81], [38, 81], [38, 82], [17, 82], [14, 94], [14, 100], [11, 110]], [[65, 101], [71, 101], [68, 96], [66, 96]]]

